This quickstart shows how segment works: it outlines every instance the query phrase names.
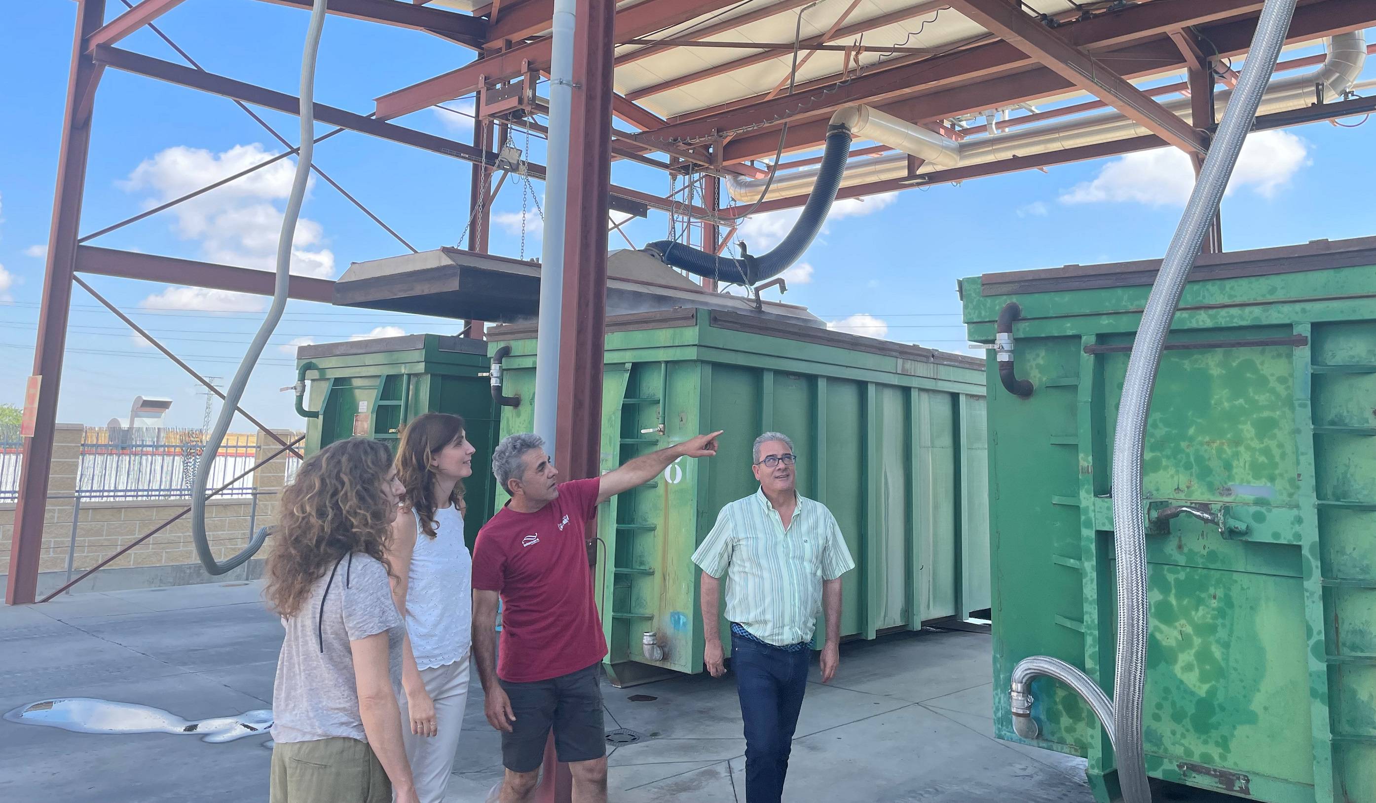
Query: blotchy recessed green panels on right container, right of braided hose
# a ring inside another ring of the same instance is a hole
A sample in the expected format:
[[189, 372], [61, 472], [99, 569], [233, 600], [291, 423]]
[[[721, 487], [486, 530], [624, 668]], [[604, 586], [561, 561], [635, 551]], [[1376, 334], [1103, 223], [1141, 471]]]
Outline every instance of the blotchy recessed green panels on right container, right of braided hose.
[[[1255, 328], [1175, 339], [1288, 335]], [[1112, 399], [1106, 432], [1113, 431], [1127, 362], [1123, 353], [1104, 357]], [[1298, 530], [1293, 410], [1292, 346], [1165, 351], [1145, 445], [1149, 505], [1205, 504], [1258, 534], [1271, 522]], [[1148, 751], [1313, 784], [1299, 537], [1288, 544], [1225, 539], [1216, 526], [1186, 517], [1159, 533], [1148, 536]]]

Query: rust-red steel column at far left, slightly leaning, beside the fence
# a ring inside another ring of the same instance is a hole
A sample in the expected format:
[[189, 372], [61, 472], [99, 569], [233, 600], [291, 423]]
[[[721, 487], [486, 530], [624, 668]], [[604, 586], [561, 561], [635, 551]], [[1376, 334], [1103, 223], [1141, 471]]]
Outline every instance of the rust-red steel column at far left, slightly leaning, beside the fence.
[[85, 52], [85, 39], [103, 22], [105, 0], [78, 0], [62, 149], [58, 156], [58, 187], [52, 198], [52, 227], [48, 231], [48, 264], [43, 277], [43, 306], [39, 311], [39, 340], [33, 350], [33, 373], [43, 379], [34, 405], [33, 437], [23, 439], [19, 500], [14, 510], [14, 534], [10, 544], [10, 583], [4, 594], [7, 605], [33, 602], [39, 587], [43, 514], [48, 504], [48, 472], [52, 468], [52, 434], [58, 421], [62, 353], [67, 342], [72, 274], [77, 259], [77, 226], [81, 223], [81, 193], [85, 187], [87, 154], [91, 146], [91, 112], [95, 90], [100, 83], [100, 67]]

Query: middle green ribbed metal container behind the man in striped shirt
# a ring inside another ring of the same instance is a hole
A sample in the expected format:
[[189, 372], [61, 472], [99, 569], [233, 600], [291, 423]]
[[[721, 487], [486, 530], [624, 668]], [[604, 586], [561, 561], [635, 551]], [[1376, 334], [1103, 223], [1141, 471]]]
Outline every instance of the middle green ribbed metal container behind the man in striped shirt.
[[[509, 344], [505, 393], [534, 395], [531, 326]], [[604, 471], [699, 432], [725, 430], [713, 459], [682, 459], [599, 512], [596, 584], [618, 685], [703, 668], [699, 570], [691, 555], [728, 501], [754, 493], [751, 444], [790, 435], [798, 488], [824, 503], [857, 569], [841, 632], [872, 639], [988, 607], [982, 361], [769, 321], [673, 310], [607, 325]], [[502, 410], [504, 435], [531, 406]], [[665, 650], [645, 657], [644, 634]], [[819, 629], [820, 639], [820, 629]]]

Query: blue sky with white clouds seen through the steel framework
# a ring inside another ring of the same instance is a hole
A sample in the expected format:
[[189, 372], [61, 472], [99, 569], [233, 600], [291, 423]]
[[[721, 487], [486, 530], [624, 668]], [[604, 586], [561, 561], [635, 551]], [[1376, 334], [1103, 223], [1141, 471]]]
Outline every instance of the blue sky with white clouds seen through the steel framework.
[[[110, 1], [111, 17], [122, 8]], [[74, 12], [76, 3], [65, 0], [14, 3], [0, 22], [7, 118], [0, 127], [0, 402], [22, 402], [32, 368]], [[164, 17], [160, 26], [211, 72], [294, 95], [305, 22], [305, 12], [268, 3], [197, 0]], [[178, 58], [149, 32], [121, 47]], [[468, 59], [469, 51], [424, 33], [332, 17], [316, 99], [367, 113], [372, 98]], [[1372, 77], [1376, 59], [1364, 73]], [[293, 117], [259, 112], [296, 140]], [[403, 123], [465, 140], [471, 131], [468, 118], [439, 110], [418, 112]], [[527, 147], [523, 134], [516, 135], [516, 145]], [[545, 160], [542, 145], [531, 138], [533, 160]], [[1376, 231], [1369, 190], [1376, 183], [1373, 146], [1376, 123], [1351, 129], [1307, 125], [1249, 145], [1251, 156], [1223, 205], [1226, 247]], [[271, 135], [223, 98], [110, 70], [95, 109], [81, 231], [102, 229], [279, 150]], [[469, 216], [464, 163], [352, 132], [322, 143], [315, 156], [319, 167], [417, 248], [458, 241]], [[849, 202], [806, 253], [806, 266], [794, 269], [786, 300], [827, 321], [849, 318], [864, 333], [963, 351], [955, 293], [960, 277], [1159, 256], [1189, 190], [1179, 158], [1153, 152]], [[270, 267], [283, 187], [290, 182], [290, 163], [275, 167], [281, 169], [267, 168], [253, 182], [208, 193], [197, 204], [154, 215], [94, 244]], [[618, 163], [612, 178], [645, 191], [669, 191], [663, 174], [641, 165]], [[544, 191], [539, 183], [533, 189]], [[538, 255], [539, 240], [534, 204], [527, 207], [533, 216], [524, 242], [528, 258]], [[517, 256], [519, 182], [506, 182], [494, 211], [493, 251]], [[297, 270], [337, 277], [351, 262], [403, 252], [323, 182], [312, 185], [303, 218]], [[765, 251], [787, 223], [787, 213], [750, 222], [743, 231], [751, 252]], [[662, 213], [625, 226], [636, 245], [665, 237], [667, 229]], [[611, 247], [623, 244], [614, 233]], [[128, 280], [88, 281], [198, 371], [216, 376], [233, 373], [263, 304]], [[194, 380], [136, 343], [80, 288], [73, 291], [70, 324], [59, 420], [103, 424], [128, 415], [129, 401], [143, 394], [173, 398], [171, 424], [201, 423], [205, 402]], [[458, 325], [293, 302], [255, 372], [245, 406], [271, 426], [300, 426], [290, 394], [278, 391], [293, 382], [293, 340], [399, 331], [453, 333]]]

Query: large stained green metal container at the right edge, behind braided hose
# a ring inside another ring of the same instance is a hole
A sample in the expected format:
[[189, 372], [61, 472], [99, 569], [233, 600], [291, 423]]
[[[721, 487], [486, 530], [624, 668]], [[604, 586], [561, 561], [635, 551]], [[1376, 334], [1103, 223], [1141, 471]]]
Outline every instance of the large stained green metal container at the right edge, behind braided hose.
[[[1160, 263], [967, 278], [973, 340], [1009, 302], [1029, 398], [989, 364], [993, 702], [1028, 656], [1113, 689], [1110, 461], [1128, 351]], [[1156, 778], [1273, 803], [1376, 800], [1376, 238], [1205, 255], [1146, 432]], [[1157, 521], [1165, 505], [1221, 517]], [[1113, 756], [1088, 708], [1033, 683], [1038, 747]]]

